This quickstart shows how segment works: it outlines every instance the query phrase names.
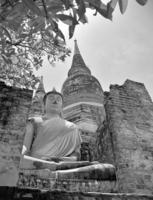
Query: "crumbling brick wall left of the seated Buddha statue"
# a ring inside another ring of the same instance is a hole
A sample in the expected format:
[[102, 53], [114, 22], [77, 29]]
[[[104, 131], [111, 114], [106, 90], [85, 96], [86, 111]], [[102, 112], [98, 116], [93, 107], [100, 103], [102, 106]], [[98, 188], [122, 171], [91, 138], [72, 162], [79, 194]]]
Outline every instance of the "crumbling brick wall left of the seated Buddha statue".
[[32, 91], [0, 82], [0, 186], [16, 185]]

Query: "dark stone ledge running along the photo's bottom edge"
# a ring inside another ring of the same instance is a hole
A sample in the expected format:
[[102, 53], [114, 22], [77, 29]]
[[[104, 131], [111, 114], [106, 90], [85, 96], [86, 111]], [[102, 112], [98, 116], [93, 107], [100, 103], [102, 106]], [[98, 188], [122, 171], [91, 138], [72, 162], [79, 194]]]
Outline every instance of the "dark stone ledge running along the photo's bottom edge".
[[44, 191], [18, 187], [0, 187], [0, 200], [153, 200], [153, 195]]

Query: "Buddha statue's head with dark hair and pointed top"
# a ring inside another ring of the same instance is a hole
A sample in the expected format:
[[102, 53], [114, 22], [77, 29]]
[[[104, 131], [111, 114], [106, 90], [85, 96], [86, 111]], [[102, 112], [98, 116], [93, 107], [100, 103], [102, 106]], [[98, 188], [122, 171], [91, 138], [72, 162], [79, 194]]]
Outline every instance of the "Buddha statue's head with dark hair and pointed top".
[[43, 98], [44, 111], [53, 114], [62, 115], [63, 97], [62, 94], [57, 92], [55, 88], [45, 94]]

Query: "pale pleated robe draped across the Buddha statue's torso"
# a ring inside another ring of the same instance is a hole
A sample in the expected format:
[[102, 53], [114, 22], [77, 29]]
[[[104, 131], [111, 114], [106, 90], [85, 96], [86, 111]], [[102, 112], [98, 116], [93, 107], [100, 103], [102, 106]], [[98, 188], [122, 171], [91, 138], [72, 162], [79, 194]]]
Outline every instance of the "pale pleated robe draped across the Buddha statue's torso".
[[69, 156], [81, 145], [79, 130], [72, 122], [60, 117], [36, 123], [36, 137], [31, 156], [39, 159]]

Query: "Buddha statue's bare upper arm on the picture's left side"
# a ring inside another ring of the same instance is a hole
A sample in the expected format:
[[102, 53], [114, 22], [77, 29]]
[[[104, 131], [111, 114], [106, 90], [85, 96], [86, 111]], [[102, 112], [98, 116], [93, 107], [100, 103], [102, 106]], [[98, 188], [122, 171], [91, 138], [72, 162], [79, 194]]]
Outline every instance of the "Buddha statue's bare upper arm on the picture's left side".
[[32, 140], [33, 140], [33, 133], [34, 133], [34, 127], [31, 121], [29, 121], [26, 125], [26, 132], [23, 142], [23, 148], [22, 148], [22, 155], [28, 155], [30, 152]]

